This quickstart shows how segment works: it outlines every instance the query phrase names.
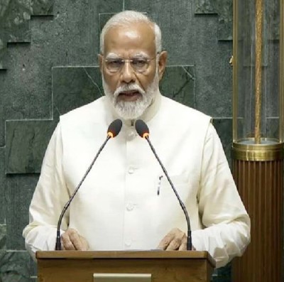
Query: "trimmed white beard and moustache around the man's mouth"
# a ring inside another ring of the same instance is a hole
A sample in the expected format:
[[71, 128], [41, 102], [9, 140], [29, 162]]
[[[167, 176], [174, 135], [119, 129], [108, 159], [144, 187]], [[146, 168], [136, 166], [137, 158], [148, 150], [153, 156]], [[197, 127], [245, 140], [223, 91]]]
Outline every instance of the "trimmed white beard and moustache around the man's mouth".
[[[145, 110], [151, 105], [155, 94], [158, 91], [159, 87], [159, 77], [158, 71], [155, 72], [155, 77], [153, 82], [147, 87], [146, 91], [144, 91], [140, 86], [136, 85], [136, 83], [131, 83], [129, 85], [121, 85], [116, 89], [114, 93], [111, 93], [109, 89], [109, 85], [104, 80], [104, 75], [102, 75], [102, 85], [104, 87], [104, 94], [109, 99], [111, 104], [113, 105], [116, 114], [118, 114], [122, 119], [138, 119], [139, 116], [145, 112]], [[117, 97], [121, 92], [135, 90], [141, 94], [136, 101], [128, 102], [119, 100], [117, 101]]]

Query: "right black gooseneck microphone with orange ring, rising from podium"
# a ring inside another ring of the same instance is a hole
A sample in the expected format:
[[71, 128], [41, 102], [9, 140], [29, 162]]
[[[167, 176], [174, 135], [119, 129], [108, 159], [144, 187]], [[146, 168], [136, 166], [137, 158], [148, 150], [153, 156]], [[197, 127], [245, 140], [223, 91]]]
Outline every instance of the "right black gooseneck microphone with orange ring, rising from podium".
[[149, 146], [151, 147], [151, 150], [153, 151], [155, 158], [160, 163], [161, 168], [163, 169], [163, 172], [165, 173], [166, 178], [168, 179], [168, 182], [170, 183], [170, 187], [173, 189], [173, 192], [175, 192], [175, 196], [178, 198], [178, 202], [180, 203], [180, 207], [182, 207], [182, 211], [185, 214], [185, 219], [187, 222], [187, 251], [192, 250], [192, 237], [191, 237], [191, 228], [190, 228], [190, 217], [188, 216], [187, 209], [185, 207], [185, 204], [180, 199], [180, 196], [178, 195], [177, 190], [175, 190], [175, 187], [173, 185], [172, 180], [170, 180], [170, 177], [167, 173], [167, 170], [165, 170], [165, 167], [163, 166], [163, 163], [160, 161], [160, 158], [158, 157], [157, 153], [155, 152], [155, 149], [149, 139], [149, 129], [147, 124], [141, 120], [137, 119], [135, 123], [135, 128], [139, 136], [141, 136], [143, 139], [146, 139], [148, 141]]

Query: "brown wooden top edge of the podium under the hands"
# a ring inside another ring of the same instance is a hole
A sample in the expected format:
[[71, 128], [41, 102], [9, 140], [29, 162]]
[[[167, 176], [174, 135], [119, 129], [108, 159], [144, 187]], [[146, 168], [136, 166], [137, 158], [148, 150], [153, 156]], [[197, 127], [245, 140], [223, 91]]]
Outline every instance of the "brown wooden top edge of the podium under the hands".
[[215, 261], [207, 251], [36, 251], [36, 259], [207, 259]]

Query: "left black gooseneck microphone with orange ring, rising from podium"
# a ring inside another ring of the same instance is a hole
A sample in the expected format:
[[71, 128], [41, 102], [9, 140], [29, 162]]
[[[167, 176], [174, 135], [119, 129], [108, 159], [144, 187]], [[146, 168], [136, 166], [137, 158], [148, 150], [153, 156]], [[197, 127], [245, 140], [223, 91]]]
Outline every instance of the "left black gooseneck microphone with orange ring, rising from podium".
[[60, 214], [60, 217], [58, 219], [58, 229], [57, 229], [57, 233], [56, 233], [56, 244], [55, 244], [55, 250], [56, 251], [59, 251], [61, 249], [60, 226], [61, 226], [61, 222], [62, 222], [62, 219], [63, 219], [63, 215], [65, 214], [67, 208], [70, 206], [73, 198], [75, 197], [76, 193], [78, 192], [79, 188], [81, 187], [82, 183], [84, 182], [84, 179], [87, 177], [89, 171], [91, 170], [92, 166], [94, 165], [94, 162], [97, 160], [97, 157], [99, 156], [99, 153], [102, 152], [102, 149], [104, 148], [104, 146], [106, 146], [107, 141], [109, 141], [109, 139], [114, 138], [114, 137], [116, 137], [119, 134], [119, 132], [121, 131], [121, 126], [122, 126], [121, 119], [115, 119], [114, 121], [111, 122], [111, 124], [109, 124], [109, 128], [107, 129], [107, 139], [104, 141], [102, 146], [99, 148], [99, 151], [97, 152], [97, 155], [94, 157], [94, 160], [89, 165], [89, 168], [87, 168], [87, 171], [86, 171], [86, 173], [84, 173], [84, 176], [82, 177], [82, 180], [77, 185], [77, 188], [75, 188], [75, 190], [72, 193], [70, 199], [66, 202], [65, 206], [63, 207], [63, 210], [62, 210], [62, 212]]

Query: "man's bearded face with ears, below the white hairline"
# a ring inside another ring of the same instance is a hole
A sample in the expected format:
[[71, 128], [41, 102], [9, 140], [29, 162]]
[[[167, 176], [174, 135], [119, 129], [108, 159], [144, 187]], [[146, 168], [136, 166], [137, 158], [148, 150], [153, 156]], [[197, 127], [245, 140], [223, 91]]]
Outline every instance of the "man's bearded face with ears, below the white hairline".
[[[153, 101], [165, 68], [166, 53], [161, 53], [158, 58], [161, 56], [162, 60], [157, 62], [155, 34], [147, 23], [114, 27], [106, 33], [104, 55], [99, 56], [104, 92], [122, 118], [136, 119]], [[135, 62], [126, 61], [116, 71], [108, 64], [114, 61], [115, 65], [117, 59], [137, 58], [147, 60], [143, 70], [136, 70]]]

